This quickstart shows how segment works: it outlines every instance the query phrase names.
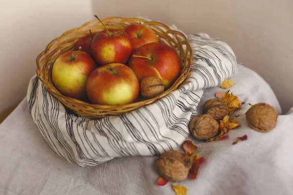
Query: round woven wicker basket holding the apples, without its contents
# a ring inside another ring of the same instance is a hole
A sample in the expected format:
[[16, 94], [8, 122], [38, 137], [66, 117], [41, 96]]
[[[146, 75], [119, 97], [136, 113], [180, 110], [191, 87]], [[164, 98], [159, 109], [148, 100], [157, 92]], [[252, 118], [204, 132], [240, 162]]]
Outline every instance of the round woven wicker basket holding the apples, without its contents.
[[99, 22], [99, 20], [89, 21], [80, 28], [69, 30], [61, 37], [52, 40], [47, 45], [46, 49], [37, 57], [38, 78], [54, 97], [58, 98], [66, 107], [70, 108], [78, 115], [90, 118], [103, 118], [108, 115], [120, 115], [129, 112], [131, 110], [151, 104], [159, 98], [165, 97], [168, 93], [176, 90], [177, 87], [187, 77], [191, 66], [192, 49], [188, 44], [187, 38], [181, 32], [171, 30], [167, 25], [160, 22], [146, 21], [138, 18], [107, 18], [102, 21], [108, 28], [123, 29], [129, 24], [139, 23], [139, 21], [141, 21], [142, 24], [152, 28], [158, 36], [160, 42], [164, 42], [178, 51], [181, 61], [181, 73], [174, 84], [164, 93], [151, 99], [145, 100], [139, 98], [136, 102], [126, 105], [112, 106], [90, 104], [75, 98], [63, 96], [56, 89], [52, 81], [53, 63], [63, 53], [72, 51], [73, 44], [77, 41], [77, 39], [88, 34], [89, 29], [91, 29], [92, 32], [104, 30], [104, 27]]

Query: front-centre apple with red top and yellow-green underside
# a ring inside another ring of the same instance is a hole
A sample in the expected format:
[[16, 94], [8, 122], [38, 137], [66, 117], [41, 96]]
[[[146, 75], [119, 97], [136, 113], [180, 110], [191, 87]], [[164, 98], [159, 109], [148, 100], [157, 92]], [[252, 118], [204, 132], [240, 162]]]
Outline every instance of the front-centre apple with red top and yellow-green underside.
[[128, 104], [137, 99], [139, 82], [128, 66], [121, 63], [106, 64], [90, 74], [86, 94], [93, 104]]

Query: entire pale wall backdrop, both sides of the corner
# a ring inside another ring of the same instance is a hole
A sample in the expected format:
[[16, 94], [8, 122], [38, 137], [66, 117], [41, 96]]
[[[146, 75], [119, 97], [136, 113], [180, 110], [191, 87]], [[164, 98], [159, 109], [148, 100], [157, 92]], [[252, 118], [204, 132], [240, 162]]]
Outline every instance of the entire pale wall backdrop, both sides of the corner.
[[0, 120], [24, 98], [45, 46], [93, 14], [143, 16], [222, 38], [271, 84], [284, 112], [293, 106], [292, 0], [1, 0], [0, 10]]

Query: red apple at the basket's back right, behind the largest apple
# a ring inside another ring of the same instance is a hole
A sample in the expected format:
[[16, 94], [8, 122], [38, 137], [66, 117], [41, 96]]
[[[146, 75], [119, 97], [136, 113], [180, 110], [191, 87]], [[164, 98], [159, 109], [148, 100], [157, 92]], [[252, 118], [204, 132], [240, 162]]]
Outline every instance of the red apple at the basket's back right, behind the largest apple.
[[133, 51], [146, 43], [158, 42], [155, 32], [141, 23], [128, 25], [124, 31], [129, 37]]

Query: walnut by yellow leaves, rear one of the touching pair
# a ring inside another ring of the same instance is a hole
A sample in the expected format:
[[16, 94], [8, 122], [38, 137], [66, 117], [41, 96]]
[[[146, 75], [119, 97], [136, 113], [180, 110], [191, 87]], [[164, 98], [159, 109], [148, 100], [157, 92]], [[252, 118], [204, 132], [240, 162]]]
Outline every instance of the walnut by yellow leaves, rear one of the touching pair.
[[212, 116], [215, 120], [222, 120], [229, 115], [229, 107], [223, 99], [213, 98], [205, 103], [205, 114]]

